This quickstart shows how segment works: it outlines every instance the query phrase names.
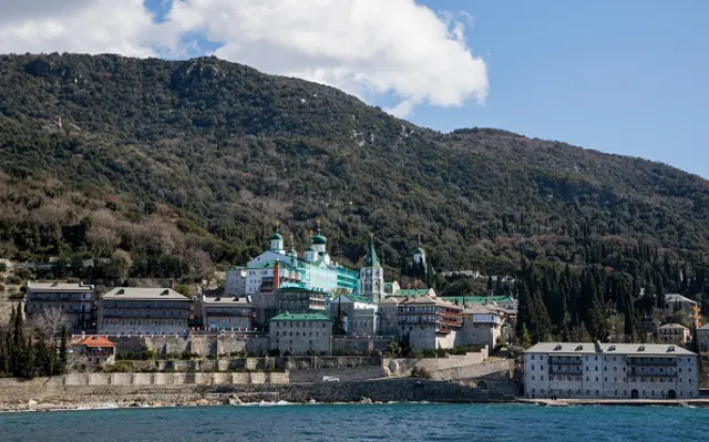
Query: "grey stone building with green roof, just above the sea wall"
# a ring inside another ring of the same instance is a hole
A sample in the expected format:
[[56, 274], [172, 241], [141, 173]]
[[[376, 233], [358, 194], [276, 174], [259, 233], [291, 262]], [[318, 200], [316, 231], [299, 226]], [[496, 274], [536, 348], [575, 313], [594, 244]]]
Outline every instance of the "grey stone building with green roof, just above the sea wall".
[[321, 313], [281, 313], [270, 320], [270, 348], [281, 354], [331, 354], [332, 321]]

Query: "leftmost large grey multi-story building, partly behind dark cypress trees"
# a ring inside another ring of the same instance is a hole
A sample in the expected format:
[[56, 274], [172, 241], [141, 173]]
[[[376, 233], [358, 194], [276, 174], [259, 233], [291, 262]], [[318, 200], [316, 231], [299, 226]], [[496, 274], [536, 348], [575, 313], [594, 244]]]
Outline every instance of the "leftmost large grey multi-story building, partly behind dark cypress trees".
[[95, 328], [93, 317], [94, 287], [85, 284], [27, 282], [27, 316], [33, 318], [42, 309], [59, 309], [72, 331]]

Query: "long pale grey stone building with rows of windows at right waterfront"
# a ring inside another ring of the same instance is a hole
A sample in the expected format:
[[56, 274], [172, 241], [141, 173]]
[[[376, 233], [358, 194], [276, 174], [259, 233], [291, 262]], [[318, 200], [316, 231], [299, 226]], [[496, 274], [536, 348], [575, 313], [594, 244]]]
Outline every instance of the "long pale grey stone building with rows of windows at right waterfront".
[[697, 354], [675, 345], [541, 342], [524, 352], [530, 398], [699, 397]]

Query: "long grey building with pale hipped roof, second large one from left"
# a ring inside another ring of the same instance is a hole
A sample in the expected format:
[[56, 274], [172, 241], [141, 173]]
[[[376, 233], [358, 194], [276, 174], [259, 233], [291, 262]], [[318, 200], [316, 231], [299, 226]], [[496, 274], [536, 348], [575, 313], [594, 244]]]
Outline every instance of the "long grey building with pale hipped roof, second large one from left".
[[168, 288], [116, 287], [99, 299], [101, 335], [181, 335], [191, 300]]

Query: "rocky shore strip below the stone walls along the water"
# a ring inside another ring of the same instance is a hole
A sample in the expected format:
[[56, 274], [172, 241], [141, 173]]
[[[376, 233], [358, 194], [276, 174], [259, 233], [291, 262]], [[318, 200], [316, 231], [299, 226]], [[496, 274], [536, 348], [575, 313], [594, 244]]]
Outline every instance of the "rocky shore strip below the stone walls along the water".
[[391, 379], [282, 386], [65, 387], [39, 392], [14, 389], [0, 397], [1, 411], [50, 411], [143, 407], [275, 403], [510, 402], [514, 397], [450, 382]]

